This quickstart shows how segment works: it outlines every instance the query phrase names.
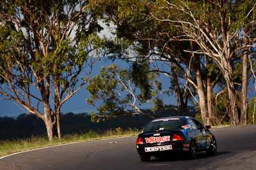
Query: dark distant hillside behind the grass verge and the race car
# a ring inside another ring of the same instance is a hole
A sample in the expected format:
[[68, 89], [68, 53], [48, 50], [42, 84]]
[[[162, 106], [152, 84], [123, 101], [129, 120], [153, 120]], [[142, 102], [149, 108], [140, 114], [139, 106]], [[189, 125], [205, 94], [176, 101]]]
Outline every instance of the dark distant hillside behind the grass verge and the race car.
[[[156, 111], [154, 116], [169, 117], [180, 115], [173, 106], [166, 106], [167, 109]], [[169, 108], [169, 109], [168, 109]], [[195, 111], [190, 108], [189, 116], [194, 116]], [[144, 110], [148, 111], [148, 110]], [[61, 132], [63, 134], [83, 133], [88, 131], [107, 131], [108, 129], [137, 128], [142, 129], [151, 118], [142, 115], [110, 118], [102, 122], [91, 122], [91, 116], [87, 113], [65, 113], [61, 114]], [[34, 115], [21, 114], [17, 118], [0, 117], [0, 139], [29, 138], [45, 134], [45, 127], [42, 120]]]

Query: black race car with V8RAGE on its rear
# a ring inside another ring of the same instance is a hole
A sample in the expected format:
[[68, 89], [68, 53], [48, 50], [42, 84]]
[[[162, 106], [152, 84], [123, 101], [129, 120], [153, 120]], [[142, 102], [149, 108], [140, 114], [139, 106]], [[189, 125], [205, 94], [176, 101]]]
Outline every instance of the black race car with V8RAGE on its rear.
[[138, 135], [136, 148], [141, 161], [175, 152], [184, 152], [191, 159], [196, 152], [205, 150], [210, 155], [217, 152], [217, 143], [209, 129], [191, 117], [164, 117], [149, 122]]

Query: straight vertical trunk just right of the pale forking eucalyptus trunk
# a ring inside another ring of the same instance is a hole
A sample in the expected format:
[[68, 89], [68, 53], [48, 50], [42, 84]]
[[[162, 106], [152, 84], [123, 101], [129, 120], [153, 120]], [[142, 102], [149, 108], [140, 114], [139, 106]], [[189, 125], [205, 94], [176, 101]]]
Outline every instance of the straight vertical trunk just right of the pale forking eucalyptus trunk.
[[[244, 45], [248, 44], [248, 37], [245, 36], [244, 38]], [[247, 117], [248, 117], [248, 100], [247, 100], [247, 69], [248, 69], [248, 48], [244, 49], [243, 53], [243, 72], [242, 72], [242, 110], [241, 110], [241, 124], [247, 124]]]

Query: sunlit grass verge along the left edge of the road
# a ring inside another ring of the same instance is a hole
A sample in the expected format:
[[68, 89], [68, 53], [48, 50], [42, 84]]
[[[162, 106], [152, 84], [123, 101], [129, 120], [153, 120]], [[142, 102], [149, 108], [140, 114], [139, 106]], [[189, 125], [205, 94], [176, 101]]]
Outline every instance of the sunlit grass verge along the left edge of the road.
[[118, 138], [123, 136], [135, 136], [138, 133], [140, 133], [138, 129], [122, 131], [122, 129], [117, 128], [115, 131], [109, 130], [101, 134], [93, 131], [85, 134], [67, 134], [63, 136], [63, 138], [55, 139], [51, 143], [48, 141], [46, 136], [35, 136], [27, 139], [0, 140], [0, 157], [35, 148], [43, 148], [45, 146], [54, 146], [97, 139]]

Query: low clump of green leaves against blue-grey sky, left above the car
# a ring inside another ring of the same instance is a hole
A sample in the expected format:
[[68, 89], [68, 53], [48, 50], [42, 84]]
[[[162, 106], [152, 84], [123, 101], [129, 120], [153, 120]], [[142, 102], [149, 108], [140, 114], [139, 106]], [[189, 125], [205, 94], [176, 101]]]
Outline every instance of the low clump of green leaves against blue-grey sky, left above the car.
[[[120, 80], [118, 80], [120, 76]], [[86, 99], [88, 104], [95, 106], [95, 102], [102, 100], [102, 105], [97, 109], [99, 113], [113, 117], [122, 114], [124, 108], [122, 104], [127, 103], [131, 96], [126, 94], [125, 97], [120, 97], [120, 92], [124, 91], [124, 87], [118, 84], [120, 81], [127, 82], [128, 74], [125, 69], [119, 69], [115, 65], [102, 67], [100, 74], [90, 80], [86, 87], [90, 92], [90, 99]], [[95, 120], [97, 115], [92, 114], [92, 120]]]

